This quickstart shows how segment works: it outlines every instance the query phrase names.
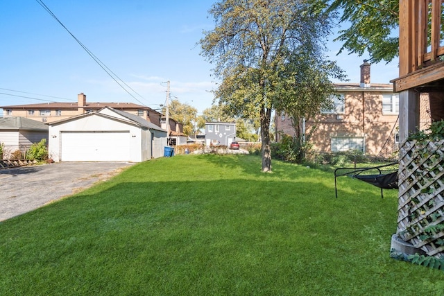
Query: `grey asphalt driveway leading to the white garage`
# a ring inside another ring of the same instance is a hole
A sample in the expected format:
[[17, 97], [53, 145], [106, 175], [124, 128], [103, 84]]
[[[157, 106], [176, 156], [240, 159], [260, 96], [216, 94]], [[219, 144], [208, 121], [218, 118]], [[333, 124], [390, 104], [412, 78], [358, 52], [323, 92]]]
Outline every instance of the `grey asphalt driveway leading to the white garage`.
[[0, 170], [0, 221], [108, 180], [128, 162], [60, 162]]

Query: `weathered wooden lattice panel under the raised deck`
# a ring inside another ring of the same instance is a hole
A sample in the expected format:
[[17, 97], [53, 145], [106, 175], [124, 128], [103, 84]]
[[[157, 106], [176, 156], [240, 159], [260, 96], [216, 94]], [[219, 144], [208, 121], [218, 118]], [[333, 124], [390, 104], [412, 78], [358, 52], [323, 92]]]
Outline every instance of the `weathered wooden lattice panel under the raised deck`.
[[444, 256], [444, 140], [400, 148], [398, 235], [429, 256]]

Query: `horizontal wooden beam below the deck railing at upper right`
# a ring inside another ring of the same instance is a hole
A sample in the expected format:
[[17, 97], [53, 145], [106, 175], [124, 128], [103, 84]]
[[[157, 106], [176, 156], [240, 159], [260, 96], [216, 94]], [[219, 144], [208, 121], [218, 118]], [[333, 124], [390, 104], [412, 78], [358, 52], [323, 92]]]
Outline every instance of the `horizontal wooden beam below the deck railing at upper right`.
[[444, 62], [436, 62], [432, 66], [425, 67], [408, 73], [400, 78], [391, 80], [394, 92], [402, 92], [406, 89], [413, 89], [420, 85], [441, 80], [444, 78]]

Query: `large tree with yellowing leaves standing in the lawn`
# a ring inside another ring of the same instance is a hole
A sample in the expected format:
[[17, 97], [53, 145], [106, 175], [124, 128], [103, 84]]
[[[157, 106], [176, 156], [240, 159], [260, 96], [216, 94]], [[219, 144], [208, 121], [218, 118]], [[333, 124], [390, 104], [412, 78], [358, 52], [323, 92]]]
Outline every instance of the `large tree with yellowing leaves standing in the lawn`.
[[210, 10], [216, 26], [200, 45], [220, 79], [215, 97], [237, 116], [259, 116], [263, 172], [271, 171], [272, 110], [295, 99], [291, 55], [325, 41], [326, 8], [321, 0], [225, 0]]

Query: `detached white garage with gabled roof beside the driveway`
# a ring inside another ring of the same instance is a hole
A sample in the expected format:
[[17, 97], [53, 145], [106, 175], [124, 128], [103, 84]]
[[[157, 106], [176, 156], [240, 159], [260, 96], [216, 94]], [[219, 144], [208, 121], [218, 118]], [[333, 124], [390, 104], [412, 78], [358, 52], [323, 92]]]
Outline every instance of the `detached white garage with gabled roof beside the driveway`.
[[55, 162], [143, 162], [163, 156], [167, 131], [111, 107], [49, 123]]

